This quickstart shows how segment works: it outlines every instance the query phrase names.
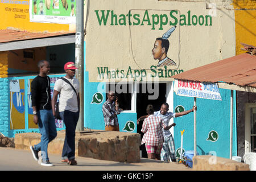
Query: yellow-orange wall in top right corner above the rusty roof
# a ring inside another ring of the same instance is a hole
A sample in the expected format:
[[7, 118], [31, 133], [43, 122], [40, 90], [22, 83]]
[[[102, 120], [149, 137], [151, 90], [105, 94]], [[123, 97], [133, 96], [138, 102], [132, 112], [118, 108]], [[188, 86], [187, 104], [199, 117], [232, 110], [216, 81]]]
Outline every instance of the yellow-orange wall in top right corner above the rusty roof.
[[236, 55], [245, 53], [241, 43], [256, 46], [256, 1], [234, 0], [236, 20]]

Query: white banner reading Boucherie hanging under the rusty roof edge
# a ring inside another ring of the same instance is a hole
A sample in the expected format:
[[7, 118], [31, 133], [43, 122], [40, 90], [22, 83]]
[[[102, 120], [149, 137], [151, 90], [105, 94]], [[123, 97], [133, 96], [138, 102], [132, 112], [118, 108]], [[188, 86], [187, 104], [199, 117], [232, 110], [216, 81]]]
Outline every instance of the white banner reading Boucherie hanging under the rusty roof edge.
[[218, 85], [211, 82], [175, 80], [174, 92], [179, 96], [222, 100]]

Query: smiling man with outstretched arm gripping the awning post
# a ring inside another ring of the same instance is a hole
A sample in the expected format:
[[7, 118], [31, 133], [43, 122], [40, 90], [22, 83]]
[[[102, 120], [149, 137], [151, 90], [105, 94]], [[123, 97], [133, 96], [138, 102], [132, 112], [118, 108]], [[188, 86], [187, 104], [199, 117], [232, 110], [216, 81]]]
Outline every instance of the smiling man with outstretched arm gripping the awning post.
[[[171, 118], [177, 118], [182, 115], [186, 115], [188, 113], [193, 112], [194, 110], [197, 110], [197, 106], [193, 106], [192, 109], [180, 112], [180, 113], [172, 113], [168, 112], [169, 105], [167, 103], [162, 104], [159, 111], [154, 112], [155, 116], [159, 116], [163, 119], [164, 125], [168, 126]], [[148, 115], [144, 115], [140, 117], [137, 120], [137, 123], [139, 121], [142, 121], [144, 118], [147, 118]], [[176, 123], [172, 123], [172, 126], [175, 126]], [[164, 142], [163, 142], [163, 148], [161, 151], [161, 160], [165, 162], [175, 162], [175, 144], [174, 144], [174, 137], [172, 137], [172, 134], [170, 130], [163, 130], [164, 135]]]

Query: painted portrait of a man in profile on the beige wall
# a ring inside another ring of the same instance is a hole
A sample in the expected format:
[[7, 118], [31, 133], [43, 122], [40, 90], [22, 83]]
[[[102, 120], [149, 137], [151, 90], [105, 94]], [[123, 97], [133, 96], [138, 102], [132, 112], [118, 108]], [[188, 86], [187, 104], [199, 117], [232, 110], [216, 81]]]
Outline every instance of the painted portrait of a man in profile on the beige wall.
[[169, 57], [167, 57], [169, 46], [170, 46], [169, 40], [163, 39], [163, 38], [156, 38], [154, 48], [152, 49], [152, 55], [154, 56], [155, 60], [156, 59], [159, 60], [157, 67], [163, 67], [165, 65], [176, 66], [176, 63], [173, 60], [171, 60]]

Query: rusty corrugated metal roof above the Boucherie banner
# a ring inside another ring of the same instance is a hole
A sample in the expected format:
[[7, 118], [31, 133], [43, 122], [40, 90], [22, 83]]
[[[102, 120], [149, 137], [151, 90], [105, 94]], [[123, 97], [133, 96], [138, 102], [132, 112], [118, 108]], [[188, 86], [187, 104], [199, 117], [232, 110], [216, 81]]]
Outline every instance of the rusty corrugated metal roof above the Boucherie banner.
[[249, 53], [229, 57], [185, 71], [172, 78], [191, 81], [226, 82], [256, 87], [256, 56]]

